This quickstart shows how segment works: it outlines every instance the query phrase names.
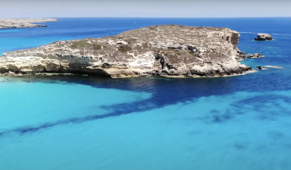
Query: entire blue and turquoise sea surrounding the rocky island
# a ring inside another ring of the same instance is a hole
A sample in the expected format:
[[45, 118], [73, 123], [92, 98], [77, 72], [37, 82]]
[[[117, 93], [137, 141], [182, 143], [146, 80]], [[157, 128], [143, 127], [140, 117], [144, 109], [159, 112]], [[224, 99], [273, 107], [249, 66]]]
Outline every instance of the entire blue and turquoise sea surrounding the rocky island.
[[[225, 78], [0, 78], [0, 169], [291, 169], [291, 18], [60, 18], [0, 30], [0, 54], [149, 25], [219, 26], [277, 65]], [[275, 40], [256, 42], [254, 33]]]

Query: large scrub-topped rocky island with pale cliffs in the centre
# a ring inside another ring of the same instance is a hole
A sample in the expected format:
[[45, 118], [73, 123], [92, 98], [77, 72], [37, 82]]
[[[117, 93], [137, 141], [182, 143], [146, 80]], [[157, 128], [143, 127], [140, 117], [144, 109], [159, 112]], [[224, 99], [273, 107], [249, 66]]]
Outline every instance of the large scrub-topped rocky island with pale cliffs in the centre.
[[57, 41], [0, 57], [0, 73], [106, 77], [212, 77], [253, 69], [236, 58], [240, 34], [228, 28], [158, 25], [116, 36]]

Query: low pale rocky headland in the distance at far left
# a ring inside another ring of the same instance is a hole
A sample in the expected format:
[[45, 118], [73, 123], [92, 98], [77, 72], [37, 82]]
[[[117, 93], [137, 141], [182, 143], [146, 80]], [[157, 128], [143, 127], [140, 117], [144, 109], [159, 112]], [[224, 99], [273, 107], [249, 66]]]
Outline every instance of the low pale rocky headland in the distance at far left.
[[33, 23], [55, 22], [59, 21], [53, 18], [0, 18], [0, 29], [9, 28], [33, 28], [33, 27], [47, 27], [47, 25], [39, 25]]

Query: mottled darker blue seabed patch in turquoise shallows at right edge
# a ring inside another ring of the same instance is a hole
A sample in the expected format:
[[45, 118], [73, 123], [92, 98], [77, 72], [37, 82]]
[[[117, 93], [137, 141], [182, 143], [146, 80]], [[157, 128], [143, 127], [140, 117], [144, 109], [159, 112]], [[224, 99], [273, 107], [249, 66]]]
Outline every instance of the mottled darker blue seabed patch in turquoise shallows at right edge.
[[237, 116], [249, 114], [258, 121], [276, 121], [280, 117], [291, 116], [291, 96], [276, 92], [257, 93], [247, 98], [236, 99], [224, 110], [210, 110], [204, 116], [196, 118], [204, 123], [225, 123]]

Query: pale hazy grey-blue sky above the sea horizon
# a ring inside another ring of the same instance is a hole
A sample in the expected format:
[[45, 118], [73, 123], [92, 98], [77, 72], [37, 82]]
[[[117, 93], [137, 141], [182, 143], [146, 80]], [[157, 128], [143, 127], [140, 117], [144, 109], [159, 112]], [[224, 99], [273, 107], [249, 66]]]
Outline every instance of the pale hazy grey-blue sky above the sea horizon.
[[278, 17], [290, 0], [0, 0], [0, 18]]

